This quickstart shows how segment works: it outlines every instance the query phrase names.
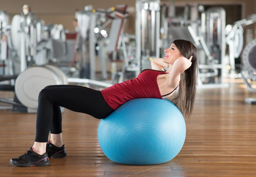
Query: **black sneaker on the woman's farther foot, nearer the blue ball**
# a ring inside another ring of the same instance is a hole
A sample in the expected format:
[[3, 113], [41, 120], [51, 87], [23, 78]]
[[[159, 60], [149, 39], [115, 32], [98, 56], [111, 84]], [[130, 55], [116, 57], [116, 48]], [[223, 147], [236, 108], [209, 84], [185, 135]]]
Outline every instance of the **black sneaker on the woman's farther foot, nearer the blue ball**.
[[62, 158], [67, 156], [67, 152], [65, 149], [65, 145], [61, 147], [54, 146], [50, 141], [46, 144], [46, 152], [48, 154], [48, 157], [54, 157], [54, 158]]

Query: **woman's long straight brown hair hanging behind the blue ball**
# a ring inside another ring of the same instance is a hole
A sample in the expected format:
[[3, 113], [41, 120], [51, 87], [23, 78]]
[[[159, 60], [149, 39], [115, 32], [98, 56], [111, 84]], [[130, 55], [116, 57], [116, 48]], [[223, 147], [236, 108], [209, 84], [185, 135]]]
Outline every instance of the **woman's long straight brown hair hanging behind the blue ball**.
[[180, 75], [180, 89], [173, 103], [180, 109], [185, 119], [189, 119], [193, 112], [195, 92], [198, 81], [198, 50], [187, 40], [174, 40], [172, 42], [180, 54], [185, 58], [193, 56], [192, 65]]

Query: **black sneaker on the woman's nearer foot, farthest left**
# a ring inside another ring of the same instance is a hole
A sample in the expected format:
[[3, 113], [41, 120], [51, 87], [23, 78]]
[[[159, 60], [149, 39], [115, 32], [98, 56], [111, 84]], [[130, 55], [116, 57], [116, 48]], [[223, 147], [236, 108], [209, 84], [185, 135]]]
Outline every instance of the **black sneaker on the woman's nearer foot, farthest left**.
[[47, 166], [50, 164], [47, 152], [43, 155], [35, 153], [33, 148], [30, 148], [25, 154], [16, 159], [11, 159], [10, 163], [13, 166]]

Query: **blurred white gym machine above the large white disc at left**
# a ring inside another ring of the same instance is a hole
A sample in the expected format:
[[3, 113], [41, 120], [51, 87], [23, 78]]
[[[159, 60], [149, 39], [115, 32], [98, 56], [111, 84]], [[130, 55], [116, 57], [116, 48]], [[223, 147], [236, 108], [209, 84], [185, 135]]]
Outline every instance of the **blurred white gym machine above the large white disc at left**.
[[[37, 27], [40, 27], [40, 30]], [[39, 54], [37, 45], [42, 40], [43, 28], [43, 20], [38, 19], [28, 5], [22, 6], [21, 15], [13, 16], [11, 20], [11, 41], [13, 49], [20, 59], [20, 72], [31, 64], [37, 64], [38, 58], [42, 58], [37, 56]], [[44, 61], [45, 63], [46, 61]]]

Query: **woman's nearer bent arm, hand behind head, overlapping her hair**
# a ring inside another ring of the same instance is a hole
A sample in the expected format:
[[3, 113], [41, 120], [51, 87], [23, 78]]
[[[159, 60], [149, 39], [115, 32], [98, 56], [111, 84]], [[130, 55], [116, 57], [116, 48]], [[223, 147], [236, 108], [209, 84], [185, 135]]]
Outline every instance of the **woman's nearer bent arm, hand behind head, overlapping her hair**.
[[189, 69], [192, 64], [192, 57], [193, 56], [191, 56], [189, 59], [181, 57], [175, 60], [175, 62], [173, 63], [173, 67], [169, 73], [171, 87], [174, 88], [179, 84], [180, 74], [183, 73], [186, 69]]

